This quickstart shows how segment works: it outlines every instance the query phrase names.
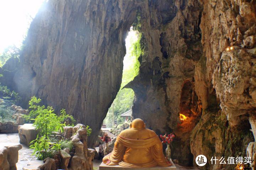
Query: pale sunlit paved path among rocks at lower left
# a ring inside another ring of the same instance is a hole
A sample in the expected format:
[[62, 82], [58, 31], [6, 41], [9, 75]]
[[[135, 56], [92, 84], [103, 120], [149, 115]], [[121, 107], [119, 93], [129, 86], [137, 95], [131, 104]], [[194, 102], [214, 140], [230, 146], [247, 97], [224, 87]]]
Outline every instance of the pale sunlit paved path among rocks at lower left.
[[[19, 140], [18, 134], [0, 134], [0, 145], [1, 143], [20, 143]], [[22, 145], [22, 149], [18, 153], [17, 170], [22, 170], [31, 160], [36, 160], [36, 157], [31, 155], [33, 151], [27, 146]]]

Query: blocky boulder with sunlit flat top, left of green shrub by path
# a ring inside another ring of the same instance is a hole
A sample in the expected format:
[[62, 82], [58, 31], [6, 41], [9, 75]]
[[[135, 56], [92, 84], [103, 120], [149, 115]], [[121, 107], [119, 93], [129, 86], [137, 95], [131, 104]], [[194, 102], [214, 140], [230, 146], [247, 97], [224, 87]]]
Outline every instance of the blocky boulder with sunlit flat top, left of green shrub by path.
[[30, 142], [36, 139], [38, 132], [33, 124], [24, 124], [18, 126], [18, 134], [20, 143], [29, 146]]

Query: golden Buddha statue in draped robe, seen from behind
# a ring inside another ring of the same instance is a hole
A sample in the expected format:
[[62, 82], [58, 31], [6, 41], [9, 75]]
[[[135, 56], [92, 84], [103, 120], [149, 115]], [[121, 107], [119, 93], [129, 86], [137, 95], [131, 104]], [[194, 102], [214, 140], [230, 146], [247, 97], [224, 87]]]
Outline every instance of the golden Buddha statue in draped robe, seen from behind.
[[142, 119], [134, 119], [130, 128], [117, 136], [113, 151], [103, 158], [103, 163], [135, 168], [171, 166], [164, 156], [158, 135], [146, 129]]

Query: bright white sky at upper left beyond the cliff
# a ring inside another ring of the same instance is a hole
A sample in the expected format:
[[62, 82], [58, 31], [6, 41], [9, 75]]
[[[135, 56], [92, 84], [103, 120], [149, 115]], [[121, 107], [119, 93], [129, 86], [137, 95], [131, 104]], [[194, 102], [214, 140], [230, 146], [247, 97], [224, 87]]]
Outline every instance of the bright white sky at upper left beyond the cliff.
[[0, 0], [0, 53], [10, 45], [20, 47], [45, 0]]

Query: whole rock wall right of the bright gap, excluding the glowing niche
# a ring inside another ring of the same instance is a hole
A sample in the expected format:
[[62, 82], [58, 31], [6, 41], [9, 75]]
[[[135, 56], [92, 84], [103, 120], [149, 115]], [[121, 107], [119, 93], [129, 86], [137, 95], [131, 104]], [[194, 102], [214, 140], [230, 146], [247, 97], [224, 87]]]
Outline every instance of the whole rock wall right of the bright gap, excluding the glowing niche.
[[[254, 141], [250, 129], [255, 133], [254, 121], [249, 124], [255, 112], [255, 1], [148, 5], [141, 15], [145, 53], [139, 58], [139, 75], [127, 86], [135, 92], [134, 117], [143, 118], [158, 134], [176, 132], [172, 158], [182, 165], [191, 165], [191, 153], [194, 158], [204, 154], [208, 160], [245, 157], [247, 145]], [[202, 108], [190, 128], [179, 120], [185, 81], [192, 82], [195, 106]], [[253, 154], [252, 148], [247, 150], [247, 155]], [[221, 168], [234, 167], [204, 167]]]

